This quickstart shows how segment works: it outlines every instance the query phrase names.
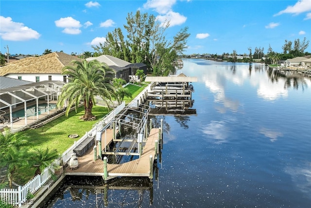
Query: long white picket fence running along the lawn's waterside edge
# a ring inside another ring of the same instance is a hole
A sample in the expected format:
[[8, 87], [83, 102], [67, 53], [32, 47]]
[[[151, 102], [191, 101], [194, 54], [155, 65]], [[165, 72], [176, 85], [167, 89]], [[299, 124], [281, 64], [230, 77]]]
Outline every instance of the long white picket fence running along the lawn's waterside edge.
[[0, 200], [12, 205], [22, 205], [27, 201], [27, 193], [30, 192], [34, 194], [38, 189], [40, 189], [55, 173], [55, 167], [60, 165], [60, 160], [63, 162], [68, 162], [70, 160], [73, 149], [76, 148], [82, 141], [84, 141], [88, 136], [95, 136], [96, 132], [100, 131], [107, 123], [112, 121], [115, 116], [120, 113], [120, 111], [125, 107], [125, 102], [117, 106], [113, 111], [106, 114], [98, 122], [96, 122], [89, 132], [86, 132], [78, 141], [65, 151], [61, 158], [55, 160], [49, 167], [45, 168], [40, 175], [35, 176], [32, 180], [27, 182], [24, 186], [19, 186], [18, 189], [0, 189]]

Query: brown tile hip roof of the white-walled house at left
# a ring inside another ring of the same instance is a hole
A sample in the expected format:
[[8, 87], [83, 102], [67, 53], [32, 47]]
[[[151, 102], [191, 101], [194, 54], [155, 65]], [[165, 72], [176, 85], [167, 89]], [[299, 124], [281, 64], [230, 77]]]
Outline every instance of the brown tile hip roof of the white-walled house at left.
[[8, 74], [62, 74], [64, 66], [71, 65], [72, 60], [80, 60], [62, 52], [53, 52], [40, 57], [27, 57], [3, 67], [0, 67], [0, 76]]

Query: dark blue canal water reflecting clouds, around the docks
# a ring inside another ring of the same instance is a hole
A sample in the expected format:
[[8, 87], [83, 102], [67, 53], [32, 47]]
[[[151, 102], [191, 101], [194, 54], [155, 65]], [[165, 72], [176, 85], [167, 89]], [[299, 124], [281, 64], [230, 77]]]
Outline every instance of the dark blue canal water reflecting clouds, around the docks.
[[70, 177], [46, 207], [311, 207], [311, 78], [183, 61], [177, 74], [198, 77], [196, 114], [151, 117], [164, 123], [153, 183], [119, 178], [104, 189], [102, 178]]

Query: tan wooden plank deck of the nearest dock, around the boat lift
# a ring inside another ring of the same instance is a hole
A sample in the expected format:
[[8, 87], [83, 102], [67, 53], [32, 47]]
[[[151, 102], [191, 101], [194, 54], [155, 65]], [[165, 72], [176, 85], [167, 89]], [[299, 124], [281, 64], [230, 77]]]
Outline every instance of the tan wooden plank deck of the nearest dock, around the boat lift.
[[[155, 141], [158, 141], [159, 129], [151, 129], [149, 136], [143, 147], [141, 157], [126, 162], [123, 164], [107, 164], [108, 178], [111, 179], [118, 176], [150, 176], [150, 155], [153, 159], [157, 155], [155, 152]], [[113, 130], [107, 129], [102, 133], [102, 149], [113, 140]], [[98, 149], [97, 152], [100, 150]], [[70, 170], [67, 167], [64, 172], [65, 175], [80, 175], [80, 176], [104, 176], [104, 161], [97, 159], [94, 161], [94, 150], [90, 148], [82, 157], [78, 157], [79, 166], [75, 170]]]

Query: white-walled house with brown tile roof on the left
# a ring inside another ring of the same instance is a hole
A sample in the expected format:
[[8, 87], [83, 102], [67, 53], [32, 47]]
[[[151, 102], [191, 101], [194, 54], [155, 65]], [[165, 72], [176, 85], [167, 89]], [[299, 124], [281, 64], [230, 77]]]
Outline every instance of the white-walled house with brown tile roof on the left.
[[40, 57], [26, 57], [0, 67], [0, 76], [16, 78], [31, 82], [64, 81], [68, 76], [62, 75], [65, 66], [80, 58], [62, 52], [53, 52]]

